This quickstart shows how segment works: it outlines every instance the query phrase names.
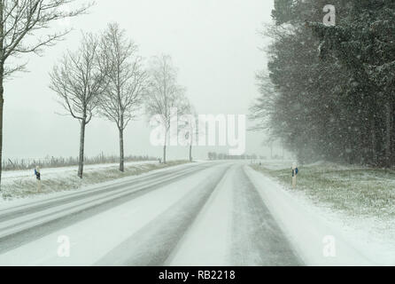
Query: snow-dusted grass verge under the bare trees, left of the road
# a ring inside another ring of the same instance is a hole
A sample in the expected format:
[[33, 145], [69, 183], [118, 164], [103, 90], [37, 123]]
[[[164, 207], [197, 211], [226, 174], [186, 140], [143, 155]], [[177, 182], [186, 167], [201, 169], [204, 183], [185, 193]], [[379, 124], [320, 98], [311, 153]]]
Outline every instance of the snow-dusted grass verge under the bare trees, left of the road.
[[128, 162], [125, 164], [124, 172], [120, 172], [118, 164], [89, 165], [85, 167], [82, 179], [77, 177], [77, 167], [43, 169], [41, 170], [40, 193], [37, 191], [37, 181], [33, 170], [9, 171], [5, 172], [2, 180], [3, 198], [5, 200], [13, 200], [70, 191], [122, 177], [137, 176], [151, 170], [164, 169], [183, 163], [186, 163], [186, 161], [171, 161], [167, 162], [167, 164], [160, 164], [159, 162]]

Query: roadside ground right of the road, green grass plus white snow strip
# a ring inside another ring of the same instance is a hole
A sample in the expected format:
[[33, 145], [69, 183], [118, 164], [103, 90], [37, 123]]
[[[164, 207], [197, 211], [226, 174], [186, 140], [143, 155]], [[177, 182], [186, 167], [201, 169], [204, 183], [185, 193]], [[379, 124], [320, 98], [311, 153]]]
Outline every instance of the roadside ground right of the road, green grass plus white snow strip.
[[[262, 198], [304, 252], [306, 263], [395, 264], [395, 176], [391, 171], [320, 162], [299, 168], [294, 190], [290, 165], [263, 162], [252, 166], [256, 171], [249, 174], [257, 186], [265, 186]], [[325, 236], [335, 237], [336, 257], [322, 257], [317, 248]]]

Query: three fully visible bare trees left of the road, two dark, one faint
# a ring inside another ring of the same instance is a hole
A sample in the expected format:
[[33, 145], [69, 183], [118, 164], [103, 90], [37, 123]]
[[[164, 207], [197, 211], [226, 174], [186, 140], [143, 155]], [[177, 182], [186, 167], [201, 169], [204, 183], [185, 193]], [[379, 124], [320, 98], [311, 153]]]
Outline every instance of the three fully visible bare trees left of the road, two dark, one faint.
[[78, 51], [67, 51], [50, 73], [50, 89], [81, 125], [78, 176], [82, 178], [85, 129], [95, 114], [114, 122], [120, 135], [120, 171], [124, 165], [124, 131], [142, 114], [156, 115], [165, 126], [163, 162], [166, 163], [171, 109], [186, 114], [190, 103], [177, 83], [177, 71], [167, 55], [151, 59], [148, 68], [136, 43], [117, 23], [109, 24], [101, 36], [83, 34]]

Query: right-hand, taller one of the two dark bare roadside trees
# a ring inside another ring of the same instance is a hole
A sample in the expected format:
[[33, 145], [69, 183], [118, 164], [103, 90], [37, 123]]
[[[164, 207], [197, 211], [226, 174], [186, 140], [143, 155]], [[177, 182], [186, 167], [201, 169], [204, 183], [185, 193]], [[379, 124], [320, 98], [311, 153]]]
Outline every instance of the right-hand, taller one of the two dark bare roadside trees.
[[124, 130], [142, 106], [148, 83], [137, 49], [118, 24], [108, 25], [101, 40], [101, 59], [111, 72], [105, 95], [100, 99], [100, 114], [115, 122], [120, 132], [120, 171], [124, 171]]

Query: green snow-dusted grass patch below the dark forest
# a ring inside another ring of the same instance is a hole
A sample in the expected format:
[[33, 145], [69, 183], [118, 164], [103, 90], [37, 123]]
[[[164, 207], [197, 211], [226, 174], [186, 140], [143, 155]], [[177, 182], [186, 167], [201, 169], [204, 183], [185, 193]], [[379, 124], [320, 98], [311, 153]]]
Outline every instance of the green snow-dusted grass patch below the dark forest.
[[[278, 162], [277, 162], [278, 164]], [[290, 165], [254, 165], [290, 188]], [[287, 167], [288, 166], [288, 167]], [[299, 167], [297, 191], [318, 204], [357, 217], [395, 218], [395, 171], [377, 170], [334, 163]]]

